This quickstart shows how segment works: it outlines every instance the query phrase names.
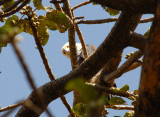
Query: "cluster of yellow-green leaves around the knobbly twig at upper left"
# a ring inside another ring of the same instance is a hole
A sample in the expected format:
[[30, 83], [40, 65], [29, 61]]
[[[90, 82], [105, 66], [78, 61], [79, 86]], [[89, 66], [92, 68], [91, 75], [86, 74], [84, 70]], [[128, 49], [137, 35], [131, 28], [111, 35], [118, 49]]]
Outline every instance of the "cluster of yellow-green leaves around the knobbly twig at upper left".
[[[37, 6], [40, 5], [37, 2], [35, 6], [38, 7], [38, 9], [43, 9], [44, 7]], [[45, 16], [36, 16], [30, 7], [23, 8], [21, 11], [21, 14], [28, 13], [32, 16], [32, 22], [37, 29], [38, 37], [43, 46], [47, 44], [49, 39], [48, 29], [53, 31], [59, 30], [61, 33], [64, 33], [69, 27], [68, 20], [61, 11], [50, 9], [50, 11], [46, 12]], [[10, 37], [22, 32], [33, 35], [29, 20], [27, 18], [19, 18], [17, 15], [9, 17], [5, 25], [0, 27], [0, 47], [7, 46], [7, 44], [10, 43]]]

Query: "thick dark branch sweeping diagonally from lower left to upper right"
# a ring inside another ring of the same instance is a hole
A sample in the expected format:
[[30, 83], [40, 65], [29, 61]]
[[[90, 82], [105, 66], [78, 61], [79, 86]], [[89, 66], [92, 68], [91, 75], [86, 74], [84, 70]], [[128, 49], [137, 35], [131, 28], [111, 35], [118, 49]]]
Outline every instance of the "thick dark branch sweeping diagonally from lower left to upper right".
[[[63, 77], [46, 83], [38, 88], [36, 91], [41, 92], [45, 106], [47, 107], [51, 101], [69, 92], [65, 90], [65, 85], [68, 81], [78, 77], [83, 77], [85, 80], [91, 79], [107, 63], [107, 61], [109, 61], [117, 52], [123, 50], [127, 46], [130, 31], [137, 26], [140, 17], [141, 15], [122, 13], [118, 22], [104, 42], [78, 68]], [[27, 101], [18, 111], [17, 117], [19, 115], [25, 117], [26, 113], [28, 113], [29, 116], [39, 116], [43, 112], [36, 113], [27, 106], [29, 102], [37, 104], [35, 91], [31, 93]]]

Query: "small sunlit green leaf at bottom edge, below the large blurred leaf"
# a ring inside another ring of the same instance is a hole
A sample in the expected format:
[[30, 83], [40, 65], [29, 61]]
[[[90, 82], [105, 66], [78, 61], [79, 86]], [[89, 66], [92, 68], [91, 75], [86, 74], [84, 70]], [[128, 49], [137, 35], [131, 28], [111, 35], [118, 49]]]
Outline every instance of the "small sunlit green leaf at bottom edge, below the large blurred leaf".
[[85, 117], [87, 112], [87, 105], [83, 103], [78, 103], [73, 107], [73, 112], [79, 117]]

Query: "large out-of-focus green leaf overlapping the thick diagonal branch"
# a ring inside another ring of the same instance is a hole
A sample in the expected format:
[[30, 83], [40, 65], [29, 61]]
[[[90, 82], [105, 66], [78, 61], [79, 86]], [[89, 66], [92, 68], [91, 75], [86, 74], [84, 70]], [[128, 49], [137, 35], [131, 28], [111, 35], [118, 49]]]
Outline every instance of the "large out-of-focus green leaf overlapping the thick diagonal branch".
[[76, 78], [69, 81], [66, 85], [66, 89], [78, 90], [80, 95], [80, 101], [83, 103], [88, 103], [96, 99], [98, 95], [97, 91], [93, 87], [86, 85], [82, 78]]

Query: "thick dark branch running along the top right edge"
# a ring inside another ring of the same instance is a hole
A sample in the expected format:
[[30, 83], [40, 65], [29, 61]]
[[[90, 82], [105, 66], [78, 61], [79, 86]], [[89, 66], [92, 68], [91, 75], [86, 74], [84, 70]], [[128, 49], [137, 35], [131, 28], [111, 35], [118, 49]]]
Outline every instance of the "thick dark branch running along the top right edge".
[[156, 9], [155, 0], [90, 0], [102, 6], [130, 13], [154, 13]]

